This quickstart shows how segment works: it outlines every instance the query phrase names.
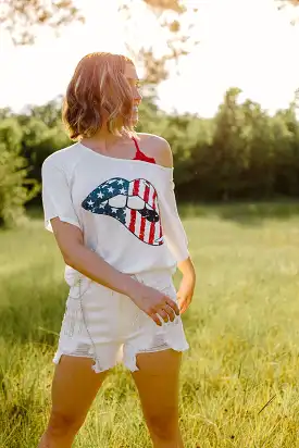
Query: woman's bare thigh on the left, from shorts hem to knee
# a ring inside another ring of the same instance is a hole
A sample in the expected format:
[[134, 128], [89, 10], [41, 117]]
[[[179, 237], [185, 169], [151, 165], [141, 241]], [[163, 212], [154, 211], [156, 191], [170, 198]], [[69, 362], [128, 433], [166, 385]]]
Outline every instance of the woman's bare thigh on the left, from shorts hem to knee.
[[95, 373], [94, 360], [62, 356], [52, 383], [51, 418], [83, 423], [108, 371]]

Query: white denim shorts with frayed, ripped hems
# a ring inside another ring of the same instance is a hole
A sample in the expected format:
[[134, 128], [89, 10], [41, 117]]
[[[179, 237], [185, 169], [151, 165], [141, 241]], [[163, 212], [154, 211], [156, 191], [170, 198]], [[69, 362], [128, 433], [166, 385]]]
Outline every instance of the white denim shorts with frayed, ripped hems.
[[[172, 272], [144, 272], [133, 275], [138, 282], [164, 293], [177, 302]], [[182, 319], [158, 326], [127, 296], [79, 274], [70, 289], [59, 347], [53, 362], [63, 354], [91, 358], [96, 373], [122, 362], [137, 371], [136, 354], [166, 349], [189, 348]]]

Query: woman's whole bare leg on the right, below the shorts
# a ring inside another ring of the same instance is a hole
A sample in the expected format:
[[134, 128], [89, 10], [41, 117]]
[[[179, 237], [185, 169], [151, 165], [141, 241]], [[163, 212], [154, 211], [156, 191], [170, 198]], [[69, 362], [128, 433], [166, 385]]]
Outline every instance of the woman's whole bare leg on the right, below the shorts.
[[154, 448], [184, 448], [178, 427], [182, 353], [172, 349], [137, 354], [133, 372]]

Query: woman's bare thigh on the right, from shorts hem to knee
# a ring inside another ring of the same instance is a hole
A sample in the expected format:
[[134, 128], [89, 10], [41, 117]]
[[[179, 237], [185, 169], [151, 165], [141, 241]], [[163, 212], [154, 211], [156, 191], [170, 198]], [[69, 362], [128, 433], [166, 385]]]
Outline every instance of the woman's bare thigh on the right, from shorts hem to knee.
[[182, 352], [172, 349], [137, 354], [132, 372], [147, 422], [152, 418], [178, 419], [178, 381]]

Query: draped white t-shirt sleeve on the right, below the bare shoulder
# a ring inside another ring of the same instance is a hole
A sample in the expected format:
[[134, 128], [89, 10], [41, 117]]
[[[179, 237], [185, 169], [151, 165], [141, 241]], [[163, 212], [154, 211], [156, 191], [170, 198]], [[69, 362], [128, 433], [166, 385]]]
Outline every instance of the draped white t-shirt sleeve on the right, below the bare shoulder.
[[177, 263], [186, 260], [190, 254], [188, 239], [178, 215], [174, 192], [173, 171], [166, 179], [160, 201], [160, 214], [165, 242]]

